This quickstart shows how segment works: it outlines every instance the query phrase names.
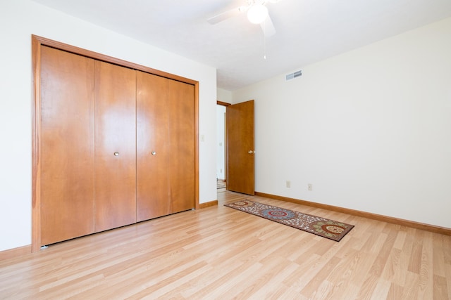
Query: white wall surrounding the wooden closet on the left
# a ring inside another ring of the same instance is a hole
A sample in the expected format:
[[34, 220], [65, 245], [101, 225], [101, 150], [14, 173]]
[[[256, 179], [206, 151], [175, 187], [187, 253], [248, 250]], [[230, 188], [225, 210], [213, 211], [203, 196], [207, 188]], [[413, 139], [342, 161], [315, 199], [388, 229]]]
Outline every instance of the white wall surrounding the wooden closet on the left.
[[31, 34], [194, 79], [199, 84], [199, 197], [216, 200], [216, 69], [29, 0], [0, 4], [0, 251], [31, 243]]

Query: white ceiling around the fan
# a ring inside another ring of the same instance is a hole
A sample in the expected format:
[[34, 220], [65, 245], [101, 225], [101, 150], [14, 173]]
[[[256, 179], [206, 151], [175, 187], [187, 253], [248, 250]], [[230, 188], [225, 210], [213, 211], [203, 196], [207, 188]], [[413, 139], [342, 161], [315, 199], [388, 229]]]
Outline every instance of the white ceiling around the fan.
[[451, 16], [451, 0], [283, 0], [265, 39], [245, 13], [206, 22], [246, 0], [34, 1], [216, 67], [228, 91]]

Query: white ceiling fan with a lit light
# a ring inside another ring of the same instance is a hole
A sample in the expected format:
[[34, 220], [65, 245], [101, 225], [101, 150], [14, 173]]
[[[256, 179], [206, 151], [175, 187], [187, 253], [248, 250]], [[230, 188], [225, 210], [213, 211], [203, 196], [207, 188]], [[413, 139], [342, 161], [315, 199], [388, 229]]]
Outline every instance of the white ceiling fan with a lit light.
[[249, 20], [249, 22], [259, 24], [261, 26], [261, 30], [263, 30], [265, 37], [271, 37], [276, 34], [276, 28], [274, 28], [273, 22], [269, 17], [266, 4], [268, 2], [277, 3], [279, 1], [281, 0], [246, 0], [246, 5], [233, 8], [230, 11], [224, 11], [223, 13], [219, 13], [218, 15], [214, 15], [213, 17], [209, 18], [207, 22], [214, 25], [228, 18], [235, 17], [235, 15], [240, 15], [241, 13], [247, 12], [247, 19]]

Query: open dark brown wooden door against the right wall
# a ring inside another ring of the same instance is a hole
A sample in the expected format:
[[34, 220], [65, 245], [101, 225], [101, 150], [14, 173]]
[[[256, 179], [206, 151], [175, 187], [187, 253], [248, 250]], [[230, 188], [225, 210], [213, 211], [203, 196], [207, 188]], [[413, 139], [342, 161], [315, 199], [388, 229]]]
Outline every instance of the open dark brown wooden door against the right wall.
[[227, 107], [227, 189], [254, 195], [254, 100]]

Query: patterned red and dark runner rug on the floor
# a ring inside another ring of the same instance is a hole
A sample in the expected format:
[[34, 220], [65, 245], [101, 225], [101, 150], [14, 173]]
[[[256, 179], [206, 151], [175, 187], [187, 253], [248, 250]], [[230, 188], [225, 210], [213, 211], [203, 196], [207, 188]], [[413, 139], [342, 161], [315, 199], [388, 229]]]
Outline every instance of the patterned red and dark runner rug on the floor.
[[224, 205], [337, 242], [354, 228], [354, 225], [312, 216], [311, 214], [303, 214], [299, 211], [273, 207], [252, 200], [242, 200]]

